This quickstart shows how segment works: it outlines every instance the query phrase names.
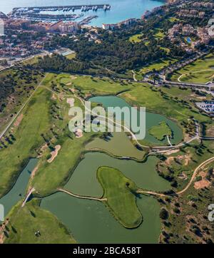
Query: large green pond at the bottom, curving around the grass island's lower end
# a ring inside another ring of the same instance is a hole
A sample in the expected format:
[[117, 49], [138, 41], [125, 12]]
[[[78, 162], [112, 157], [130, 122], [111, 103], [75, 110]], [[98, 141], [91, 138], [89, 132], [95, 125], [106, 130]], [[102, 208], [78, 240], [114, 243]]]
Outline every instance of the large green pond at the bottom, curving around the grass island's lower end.
[[159, 203], [153, 197], [142, 196], [137, 205], [143, 223], [136, 229], [126, 229], [101, 202], [81, 200], [63, 192], [41, 201], [41, 208], [56, 215], [78, 243], [157, 243], [161, 231]]

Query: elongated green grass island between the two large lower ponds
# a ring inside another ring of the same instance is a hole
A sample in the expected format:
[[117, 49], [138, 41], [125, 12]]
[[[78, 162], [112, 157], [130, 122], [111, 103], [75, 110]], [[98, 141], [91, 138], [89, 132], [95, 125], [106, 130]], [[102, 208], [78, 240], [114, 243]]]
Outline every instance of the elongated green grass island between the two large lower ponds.
[[143, 217], [133, 193], [138, 189], [136, 184], [113, 167], [99, 167], [97, 177], [103, 187], [103, 197], [107, 198], [108, 208], [114, 217], [123, 227], [138, 227]]

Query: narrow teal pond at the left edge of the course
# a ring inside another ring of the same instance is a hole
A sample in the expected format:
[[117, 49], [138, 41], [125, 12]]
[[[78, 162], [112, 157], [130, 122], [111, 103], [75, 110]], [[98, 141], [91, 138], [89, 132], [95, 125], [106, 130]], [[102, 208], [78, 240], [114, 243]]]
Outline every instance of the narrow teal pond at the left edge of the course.
[[26, 187], [29, 183], [31, 172], [36, 167], [38, 160], [36, 158], [31, 159], [19, 175], [14, 187], [0, 199], [0, 204], [4, 205], [4, 214], [7, 215], [11, 208], [16, 205], [19, 200], [23, 199], [26, 194]]

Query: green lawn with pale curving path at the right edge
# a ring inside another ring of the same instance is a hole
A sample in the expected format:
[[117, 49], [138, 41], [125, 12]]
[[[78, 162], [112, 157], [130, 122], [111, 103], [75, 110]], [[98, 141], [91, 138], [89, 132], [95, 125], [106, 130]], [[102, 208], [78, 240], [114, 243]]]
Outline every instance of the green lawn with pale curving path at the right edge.
[[171, 81], [190, 83], [208, 83], [214, 80], [214, 55], [209, 54], [188, 66], [176, 71], [170, 77]]

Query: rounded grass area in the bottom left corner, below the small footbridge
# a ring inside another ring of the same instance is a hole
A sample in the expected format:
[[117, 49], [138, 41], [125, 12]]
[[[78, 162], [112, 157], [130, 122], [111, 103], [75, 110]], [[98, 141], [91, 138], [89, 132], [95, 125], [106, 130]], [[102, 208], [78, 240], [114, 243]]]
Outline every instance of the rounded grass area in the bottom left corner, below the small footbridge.
[[[57, 217], [31, 200], [24, 207], [17, 204], [9, 214], [5, 244], [74, 244], [75, 239]], [[39, 237], [35, 232], [40, 231]]]

